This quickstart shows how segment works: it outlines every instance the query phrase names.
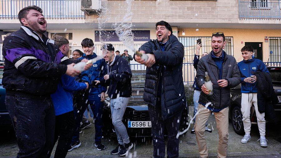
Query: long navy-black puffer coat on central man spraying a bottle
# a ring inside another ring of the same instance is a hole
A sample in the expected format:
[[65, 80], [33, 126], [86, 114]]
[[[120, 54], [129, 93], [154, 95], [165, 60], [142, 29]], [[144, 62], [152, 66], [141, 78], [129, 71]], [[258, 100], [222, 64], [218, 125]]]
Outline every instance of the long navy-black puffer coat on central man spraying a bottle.
[[[173, 114], [181, 112], [186, 106], [185, 90], [182, 78], [182, 63], [184, 47], [173, 34], [169, 36], [165, 51], [162, 51], [157, 40], [150, 40], [143, 44], [139, 50], [155, 55], [155, 64], [146, 68], [145, 103], [155, 106], [158, 84], [162, 85], [161, 110], [162, 117], [169, 118]], [[162, 73], [159, 83], [160, 73]]]

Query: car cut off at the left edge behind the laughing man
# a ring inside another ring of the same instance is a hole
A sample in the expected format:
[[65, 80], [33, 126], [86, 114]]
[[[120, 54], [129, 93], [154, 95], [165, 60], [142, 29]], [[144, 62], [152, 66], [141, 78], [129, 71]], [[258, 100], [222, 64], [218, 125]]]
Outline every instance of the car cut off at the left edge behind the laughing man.
[[0, 60], [0, 127], [12, 127], [12, 120], [5, 105], [6, 90], [2, 85], [4, 62]]

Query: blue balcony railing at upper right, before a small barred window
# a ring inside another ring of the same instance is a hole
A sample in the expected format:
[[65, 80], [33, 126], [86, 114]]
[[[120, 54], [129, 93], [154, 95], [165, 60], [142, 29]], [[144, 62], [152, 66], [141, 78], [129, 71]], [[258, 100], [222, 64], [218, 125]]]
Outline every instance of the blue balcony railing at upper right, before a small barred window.
[[239, 0], [239, 19], [279, 19], [281, 0]]

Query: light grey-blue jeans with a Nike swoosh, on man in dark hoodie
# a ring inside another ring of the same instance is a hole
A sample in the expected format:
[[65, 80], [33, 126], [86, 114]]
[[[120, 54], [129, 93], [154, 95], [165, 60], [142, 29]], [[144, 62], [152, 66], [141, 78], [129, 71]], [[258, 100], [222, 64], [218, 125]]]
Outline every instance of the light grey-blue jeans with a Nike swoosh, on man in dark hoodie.
[[[117, 140], [119, 144], [128, 144], [130, 142], [129, 136], [127, 133], [127, 129], [122, 122], [122, 118], [124, 116], [126, 107], [130, 101], [130, 97], [118, 97], [115, 99], [111, 99], [110, 102], [110, 110], [112, 116], [112, 124], [115, 128], [115, 132], [117, 135]], [[95, 121], [96, 124], [96, 121]]]

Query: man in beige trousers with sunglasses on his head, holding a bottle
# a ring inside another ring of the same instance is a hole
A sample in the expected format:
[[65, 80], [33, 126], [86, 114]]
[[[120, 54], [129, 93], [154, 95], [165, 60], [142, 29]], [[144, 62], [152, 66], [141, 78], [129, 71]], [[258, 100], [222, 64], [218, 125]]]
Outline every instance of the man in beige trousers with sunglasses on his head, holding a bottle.
[[[195, 122], [195, 135], [200, 157], [208, 157], [205, 141], [205, 123], [214, 113], [219, 134], [218, 157], [227, 156], [228, 144], [228, 112], [230, 105], [230, 89], [240, 83], [240, 73], [233, 56], [223, 50], [225, 45], [223, 32], [214, 32], [212, 35], [212, 51], [199, 60], [196, 71], [196, 81], [201, 89], [199, 97], [198, 115]], [[213, 94], [206, 88], [205, 72], [208, 72], [213, 84]]]

